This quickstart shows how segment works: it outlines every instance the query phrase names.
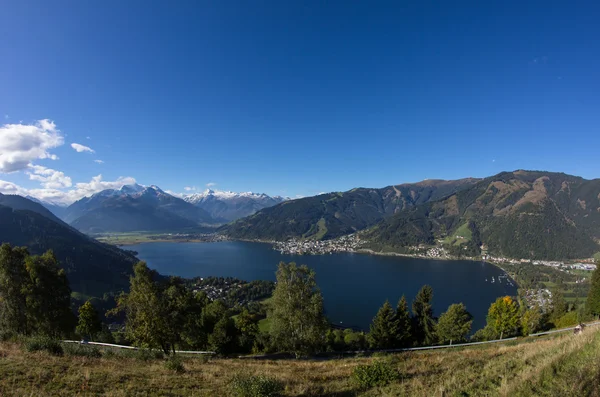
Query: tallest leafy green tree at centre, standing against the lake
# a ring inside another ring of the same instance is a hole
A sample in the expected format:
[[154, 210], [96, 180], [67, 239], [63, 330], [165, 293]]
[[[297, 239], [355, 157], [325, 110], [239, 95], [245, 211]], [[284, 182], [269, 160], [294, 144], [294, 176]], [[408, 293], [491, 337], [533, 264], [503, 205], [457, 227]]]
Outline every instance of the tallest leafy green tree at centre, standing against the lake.
[[281, 262], [276, 277], [268, 313], [274, 345], [297, 357], [318, 351], [325, 345], [327, 321], [314, 270]]

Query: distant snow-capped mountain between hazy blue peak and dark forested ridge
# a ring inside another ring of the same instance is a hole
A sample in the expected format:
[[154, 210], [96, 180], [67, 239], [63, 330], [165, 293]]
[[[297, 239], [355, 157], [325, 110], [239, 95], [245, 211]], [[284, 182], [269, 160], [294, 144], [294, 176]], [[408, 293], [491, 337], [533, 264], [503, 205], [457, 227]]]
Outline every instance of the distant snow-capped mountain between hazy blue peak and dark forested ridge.
[[233, 193], [211, 189], [185, 196], [183, 199], [202, 208], [220, 222], [231, 222], [285, 201], [283, 197], [271, 197], [264, 193]]

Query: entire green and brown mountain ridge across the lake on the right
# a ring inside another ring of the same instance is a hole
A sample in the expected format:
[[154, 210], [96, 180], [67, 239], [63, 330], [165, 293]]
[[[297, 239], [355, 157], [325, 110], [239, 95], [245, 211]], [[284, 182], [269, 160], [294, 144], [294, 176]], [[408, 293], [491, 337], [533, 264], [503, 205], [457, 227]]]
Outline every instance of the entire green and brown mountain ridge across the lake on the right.
[[233, 238], [330, 239], [360, 231], [368, 246], [411, 252], [442, 244], [455, 254], [583, 258], [600, 251], [600, 179], [503, 172], [428, 180], [284, 202], [221, 228]]

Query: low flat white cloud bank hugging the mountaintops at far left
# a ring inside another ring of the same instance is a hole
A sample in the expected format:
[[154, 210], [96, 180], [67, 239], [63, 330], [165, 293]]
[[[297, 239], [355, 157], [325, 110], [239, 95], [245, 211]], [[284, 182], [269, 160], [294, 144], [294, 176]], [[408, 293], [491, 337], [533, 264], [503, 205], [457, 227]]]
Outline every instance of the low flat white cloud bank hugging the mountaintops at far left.
[[[48, 173], [48, 169], [40, 171]], [[102, 180], [102, 175], [97, 175], [89, 182], [76, 183], [75, 187], [72, 189], [60, 190], [53, 187], [45, 189], [26, 189], [12, 182], [0, 180], [0, 193], [19, 194], [21, 196], [29, 195], [50, 203], [68, 205], [85, 196], [91, 196], [102, 190], [120, 189], [123, 185], [131, 185], [134, 183], [135, 178], [132, 177], [119, 177], [115, 181], [104, 181]]]

